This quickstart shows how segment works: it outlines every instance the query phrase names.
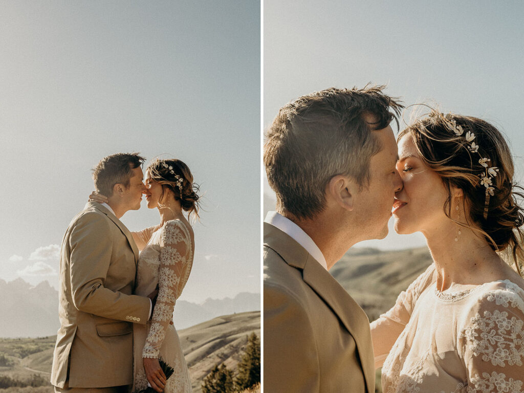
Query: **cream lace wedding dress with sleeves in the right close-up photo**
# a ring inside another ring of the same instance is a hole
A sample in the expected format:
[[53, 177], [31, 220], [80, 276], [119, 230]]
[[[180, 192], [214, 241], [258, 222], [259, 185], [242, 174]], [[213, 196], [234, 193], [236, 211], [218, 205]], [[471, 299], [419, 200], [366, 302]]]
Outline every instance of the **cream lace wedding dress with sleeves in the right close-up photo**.
[[509, 280], [453, 294], [431, 265], [371, 325], [384, 393], [524, 392], [524, 290]]

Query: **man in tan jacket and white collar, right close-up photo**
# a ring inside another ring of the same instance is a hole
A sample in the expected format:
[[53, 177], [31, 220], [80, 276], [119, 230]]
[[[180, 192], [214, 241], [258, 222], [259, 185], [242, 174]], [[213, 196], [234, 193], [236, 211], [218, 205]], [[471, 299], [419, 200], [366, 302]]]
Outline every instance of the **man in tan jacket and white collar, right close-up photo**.
[[327, 89], [282, 107], [264, 145], [277, 212], [264, 222], [264, 390], [375, 391], [369, 320], [329, 274], [388, 233], [401, 105], [383, 87]]

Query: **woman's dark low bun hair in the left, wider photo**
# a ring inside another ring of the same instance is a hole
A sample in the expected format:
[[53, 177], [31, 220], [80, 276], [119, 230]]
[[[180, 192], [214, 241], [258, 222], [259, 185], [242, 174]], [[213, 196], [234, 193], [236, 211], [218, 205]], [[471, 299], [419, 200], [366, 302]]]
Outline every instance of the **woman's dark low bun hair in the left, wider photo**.
[[188, 217], [194, 213], [200, 219], [199, 185], [193, 182], [193, 175], [183, 161], [157, 158], [149, 164], [147, 170], [151, 179], [162, 185], [162, 197], [163, 192], [171, 191], [174, 199], [180, 201], [182, 209], [189, 212]]

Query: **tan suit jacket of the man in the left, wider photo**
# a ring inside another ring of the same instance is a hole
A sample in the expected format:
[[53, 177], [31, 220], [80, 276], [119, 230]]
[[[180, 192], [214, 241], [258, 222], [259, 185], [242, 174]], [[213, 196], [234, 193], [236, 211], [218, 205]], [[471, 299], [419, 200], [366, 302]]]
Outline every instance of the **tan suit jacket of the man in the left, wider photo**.
[[138, 248], [104, 206], [85, 205], [60, 252], [60, 329], [51, 384], [60, 388], [133, 383], [133, 323], [149, 318], [148, 298], [132, 294]]

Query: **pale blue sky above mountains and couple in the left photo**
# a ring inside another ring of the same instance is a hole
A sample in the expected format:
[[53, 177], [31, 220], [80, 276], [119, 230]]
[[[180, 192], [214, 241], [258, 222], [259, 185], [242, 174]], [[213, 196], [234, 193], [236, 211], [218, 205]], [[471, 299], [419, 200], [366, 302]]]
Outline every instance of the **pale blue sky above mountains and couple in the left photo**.
[[182, 299], [259, 292], [259, 2], [0, 4], [0, 278], [56, 283], [90, 169], [139, 151], [183, 160], [205, 194]]

